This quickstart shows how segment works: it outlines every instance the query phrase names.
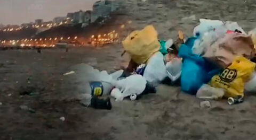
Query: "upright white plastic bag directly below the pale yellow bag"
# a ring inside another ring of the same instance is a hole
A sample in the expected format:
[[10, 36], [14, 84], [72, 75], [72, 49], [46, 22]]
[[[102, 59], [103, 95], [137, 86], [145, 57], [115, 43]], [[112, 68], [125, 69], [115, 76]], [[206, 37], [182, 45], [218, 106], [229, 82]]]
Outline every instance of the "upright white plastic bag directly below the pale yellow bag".
[[153, 84], [158, 84], [167, 77], [164, 56], [161, 52], [158, 51], [149, 58], [143, 77]]

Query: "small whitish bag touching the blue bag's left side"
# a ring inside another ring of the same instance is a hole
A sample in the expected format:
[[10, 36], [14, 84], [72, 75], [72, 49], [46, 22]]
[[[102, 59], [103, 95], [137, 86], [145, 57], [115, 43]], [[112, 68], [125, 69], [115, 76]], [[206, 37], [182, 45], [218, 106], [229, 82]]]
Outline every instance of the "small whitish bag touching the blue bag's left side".
[[178, 80], [181, 75], [182, 60], [180, 58], [173, 58], [170, 62], [166, 63], [167, 76], [172, 82]]

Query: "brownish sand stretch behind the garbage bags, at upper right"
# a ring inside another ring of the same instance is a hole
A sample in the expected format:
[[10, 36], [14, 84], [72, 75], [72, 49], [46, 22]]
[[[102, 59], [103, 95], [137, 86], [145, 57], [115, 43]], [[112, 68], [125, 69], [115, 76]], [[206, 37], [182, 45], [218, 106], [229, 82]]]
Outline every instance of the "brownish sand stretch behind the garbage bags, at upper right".
[[256, 4], [253, 0], [126, 0], [122, 8], [141, 29], [153, 24], [163, 39], [174, 38], [178, 30], [191, 35], [199, 18], [237, 21], [244, 30], [256, 27]]

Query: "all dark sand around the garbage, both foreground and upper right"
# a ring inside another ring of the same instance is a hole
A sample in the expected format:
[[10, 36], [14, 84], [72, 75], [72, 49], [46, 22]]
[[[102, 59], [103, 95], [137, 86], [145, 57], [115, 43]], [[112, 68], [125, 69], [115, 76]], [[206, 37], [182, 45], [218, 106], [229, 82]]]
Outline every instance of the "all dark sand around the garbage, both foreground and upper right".
[[[127, 0], [123, 8], [128, 10], [124, 14], [127, 21], [133, 21], [132, 29], [154, 24], [161, 39], [175, 38], [179, 29], [191, 35], [199, 17], [238, 21], [247, 31], [256, 25], [253, 0]], [[182, 20], [191, 15], [196, 20]], [[42, 50], [42, 54], [36, 50], [0, 51], [0, 139], [256, 138], [255, 94], [246, 95], [245, 101], [235, 106], [225, 100], [211, 101], [211, 107], [204, 109], [199, 106], [201, 100], [182, 93], [179, 87], [160, 85], [157, 94], [138, 101], [112, 99], [110, 111], [81, 106], [74, 96], [76, 90], [69, 88], [75, 84], [62, 74], [94, 58], [96, 68], [113, 71], [122, 61], [122, 51], [121, 44], [70, 49], [68, 53], [64, 49]], [[20, 96], [19, 87], [27, 85], [29, 76], [30, 85], [42, 91]], [[21, 110], [21, 105], [36, 112]], [[65, 121], [59, 119], [62, 116]]]

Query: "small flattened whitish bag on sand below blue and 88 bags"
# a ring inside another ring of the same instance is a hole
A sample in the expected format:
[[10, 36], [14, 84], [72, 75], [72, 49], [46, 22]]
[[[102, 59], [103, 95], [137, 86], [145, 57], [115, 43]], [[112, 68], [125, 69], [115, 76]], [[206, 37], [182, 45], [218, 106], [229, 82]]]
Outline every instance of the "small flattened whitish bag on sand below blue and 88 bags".
[[225, 94], [224, 89], [213, 88], [208, 84], [203, 84], [197, 91], [196, 97], [204, 100], [217, 100], [223, 97]]

